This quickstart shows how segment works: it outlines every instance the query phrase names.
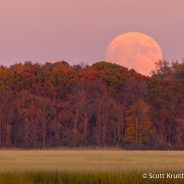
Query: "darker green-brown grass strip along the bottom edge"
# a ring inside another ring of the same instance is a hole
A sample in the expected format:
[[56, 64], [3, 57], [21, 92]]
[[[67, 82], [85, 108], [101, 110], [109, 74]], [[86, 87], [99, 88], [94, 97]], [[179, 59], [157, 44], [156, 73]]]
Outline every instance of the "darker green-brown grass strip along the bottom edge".
[[1, 173], [2, 184], [180, 184], [180, 179], [143, 179], [140, 173]]

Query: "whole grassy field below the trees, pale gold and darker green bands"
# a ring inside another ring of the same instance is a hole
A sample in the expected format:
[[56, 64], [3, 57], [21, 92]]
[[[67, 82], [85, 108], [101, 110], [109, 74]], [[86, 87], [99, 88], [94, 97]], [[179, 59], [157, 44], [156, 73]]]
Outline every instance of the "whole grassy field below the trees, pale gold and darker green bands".
[[0, 184], [184, 183], [143, 173], [184, 171], [182, 151], [0, 151]]

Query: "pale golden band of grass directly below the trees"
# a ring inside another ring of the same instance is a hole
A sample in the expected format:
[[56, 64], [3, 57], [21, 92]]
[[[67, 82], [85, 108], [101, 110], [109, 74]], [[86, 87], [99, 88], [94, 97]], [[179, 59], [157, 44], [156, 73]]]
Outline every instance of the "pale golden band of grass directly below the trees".
[[0, 172], [183, 171], [183, 151], [2, 150]]

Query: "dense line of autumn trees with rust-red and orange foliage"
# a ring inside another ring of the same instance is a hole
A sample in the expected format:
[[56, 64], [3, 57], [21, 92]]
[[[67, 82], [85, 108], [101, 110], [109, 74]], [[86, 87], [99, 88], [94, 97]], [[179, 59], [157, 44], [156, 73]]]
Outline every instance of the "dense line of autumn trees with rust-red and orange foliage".
[[0, 67], [0, 147], [184, 148], [184, 63]]

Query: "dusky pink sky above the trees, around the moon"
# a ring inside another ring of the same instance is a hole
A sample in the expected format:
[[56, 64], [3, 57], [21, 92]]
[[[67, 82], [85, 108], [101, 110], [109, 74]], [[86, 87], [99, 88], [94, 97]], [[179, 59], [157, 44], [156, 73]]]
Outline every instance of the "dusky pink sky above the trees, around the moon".
[[126, 32], [153, 37], [167, 60], [184, 58], [183, 0], [1, 0], [0, 64], [105, 60]]

